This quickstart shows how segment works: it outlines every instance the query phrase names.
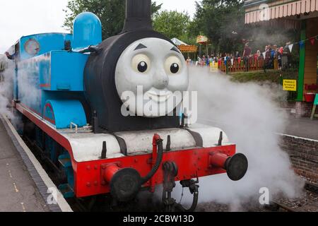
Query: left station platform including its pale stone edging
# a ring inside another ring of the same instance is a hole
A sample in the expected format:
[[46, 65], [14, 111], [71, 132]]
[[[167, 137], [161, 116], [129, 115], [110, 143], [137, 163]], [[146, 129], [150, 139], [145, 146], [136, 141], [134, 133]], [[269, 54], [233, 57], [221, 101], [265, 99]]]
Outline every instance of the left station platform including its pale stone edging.
[[47, 203], [49, 189], [57, 188], [10, 121], [0, 115], [0, 212], [71, 212], [59, 191], [57, 201]]

